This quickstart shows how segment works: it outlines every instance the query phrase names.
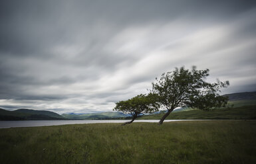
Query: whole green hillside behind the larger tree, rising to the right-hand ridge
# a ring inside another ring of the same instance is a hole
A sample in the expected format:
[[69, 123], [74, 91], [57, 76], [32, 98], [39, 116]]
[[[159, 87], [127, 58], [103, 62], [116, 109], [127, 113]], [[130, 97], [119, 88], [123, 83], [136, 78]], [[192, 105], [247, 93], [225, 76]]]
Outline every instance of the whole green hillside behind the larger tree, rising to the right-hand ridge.
[[[224, 108], [209, 112], [193, 108], [178, 108], [166, 119], [256, 119], [256, 92], [231, 93], [223, 95], [223, 97], [229, 97], [229, 101]], [[160, 119], [162, 115], [151, 114], [138, 119]]]

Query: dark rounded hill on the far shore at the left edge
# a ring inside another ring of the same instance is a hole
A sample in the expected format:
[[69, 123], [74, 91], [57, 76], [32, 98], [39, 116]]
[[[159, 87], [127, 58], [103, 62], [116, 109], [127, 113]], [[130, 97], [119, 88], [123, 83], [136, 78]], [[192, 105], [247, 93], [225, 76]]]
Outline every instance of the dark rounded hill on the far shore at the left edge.
[[65, 120], [63, 116], [47, 110], [17, 109], [13, 111], [0, 108], [0, 120]]

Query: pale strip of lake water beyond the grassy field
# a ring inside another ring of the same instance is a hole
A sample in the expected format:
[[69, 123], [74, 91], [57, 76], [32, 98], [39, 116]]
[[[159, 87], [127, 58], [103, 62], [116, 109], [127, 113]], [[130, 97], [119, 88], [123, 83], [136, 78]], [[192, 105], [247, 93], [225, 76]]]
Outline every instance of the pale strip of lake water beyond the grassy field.
[[[95, 124], [95, 123], [122, 123], [129, 120], [25, 120], [25, 121], [0, 121], [0, 128], [32, 127], [32, 126], [57, 126], [66, 124]], [[189, 121], [189, 120], [164, 120]], [[134, 120], [134, 122], [159, 122], [159, 120]]]

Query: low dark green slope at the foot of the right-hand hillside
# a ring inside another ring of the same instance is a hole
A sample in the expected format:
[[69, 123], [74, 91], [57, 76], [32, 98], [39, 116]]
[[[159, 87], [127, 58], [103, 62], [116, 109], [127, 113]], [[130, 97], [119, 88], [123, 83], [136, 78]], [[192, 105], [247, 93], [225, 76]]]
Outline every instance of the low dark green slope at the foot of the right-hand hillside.
[[[152, 114], [141, 116], [138, 120], [160, 120], [164, 114]], [[256, 105], [240, 106], [237, 108], [220, 108], [211, 111], [188, 110], [171, 112], [167, 120], [203, 120], [203, 119], [231, 119], [231, 120], [255, 120]]]

